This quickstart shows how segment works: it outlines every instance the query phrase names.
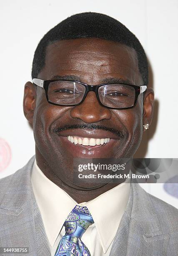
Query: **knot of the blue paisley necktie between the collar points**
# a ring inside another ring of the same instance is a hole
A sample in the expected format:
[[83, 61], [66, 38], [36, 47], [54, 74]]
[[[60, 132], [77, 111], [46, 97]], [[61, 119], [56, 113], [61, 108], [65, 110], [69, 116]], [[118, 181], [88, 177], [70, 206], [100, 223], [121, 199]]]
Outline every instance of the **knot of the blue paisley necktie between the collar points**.
[[88, 208], [76, 205], [65, 220], [65, 235], [81, 238], [83, 233], [93, 223], [94, 221]]

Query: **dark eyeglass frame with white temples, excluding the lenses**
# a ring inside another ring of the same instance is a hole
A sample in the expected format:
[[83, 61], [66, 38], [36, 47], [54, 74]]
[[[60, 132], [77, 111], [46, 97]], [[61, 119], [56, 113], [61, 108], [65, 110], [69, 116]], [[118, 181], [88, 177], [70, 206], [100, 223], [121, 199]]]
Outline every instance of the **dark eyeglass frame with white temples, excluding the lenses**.
[[[54, 102], [51, 102], [48, 98], [48, 87], [49, 87], [49, 84], [50, 82], [57, 82], [57, 81], [67, 81], [67, 82], [75, 82], [75, 83], [78, 83], [78, 84], [82, 84], [85, 86], [85, 94], [83, 95], [83, 99], [77, 103], [77, 104], [71, 104], [71, 105], [63, 105], [63, 104], [58, 104], [58, 103], [54, 103]], [[135, 105], [137, 104], [137, 101], [138, 101], [138, 95], [140, 95], [141, 93], [145, 92], [145, 90], [147, 89], [147, 86], [146, 85], [133, 85], [133, 84], [126, 84], [126, 83], [119, 83], [119, 84], [123, 84], [123, 85], [128, 85], [128, 86], [131, 86], [134, 88], [135, 90], [135, 102], [133, 103], [133, 106], [131, 107], [127, 107], [127, 108], [111, 108], [111, 107], [108, 107], [108, 106], [105, 106], [103, 105], [101, 102], [100, 102], [100, 98], [99, 98], [99, 95], [98, 95], [98, 88], [103, 86], [103, 85], [110, 85], [110, 84], [117, 84], [117, 83], [107, 83], [107, 84], [98, 84], [98, 85], [89, 85], [89, 84], [84, 84], [82, 82], [78, 82], [78, 81], [74, 81], [74, 80], [67, 80], [67, 79], [59, 79], [59, 80], [42, 80], [42, 79], [38, 79], [38, 78], [33, 78], [32, 80], [33, 84], [36, 84], [38, 85], [39, 87], [42, 87], [44, 90], [45, 90], [45, 95], [46, 95], [46, 99], [48, 101], [48, 103], [52, 104], [52, 105], [57, 105], [57, 106], [77, 106], [77, 105], [80, 105], [86, 98], [88, 92], [95, 92], [96, 94], [96, 97], [98, 99], [98, 102], [100, 103], [101, 106], [105, 107], [105, 108], [110, 108], [110, 109], [130, 109], [130, 108], [134, 108]], [[119, 85], [118, 84], [118, 85]]]

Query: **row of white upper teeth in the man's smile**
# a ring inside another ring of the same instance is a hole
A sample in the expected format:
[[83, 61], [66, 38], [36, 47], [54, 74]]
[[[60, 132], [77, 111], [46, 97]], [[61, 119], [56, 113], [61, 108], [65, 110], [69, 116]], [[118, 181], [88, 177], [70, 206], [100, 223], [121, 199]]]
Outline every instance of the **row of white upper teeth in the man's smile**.
[[104, 143], [108, 143], [110, 141], [110, 138], [80, 138], [78, 136], [68, 136], [68, 140], [75, 145], [83, 145], [83, 146], [96, 146], [96, 145], [103, 145]]

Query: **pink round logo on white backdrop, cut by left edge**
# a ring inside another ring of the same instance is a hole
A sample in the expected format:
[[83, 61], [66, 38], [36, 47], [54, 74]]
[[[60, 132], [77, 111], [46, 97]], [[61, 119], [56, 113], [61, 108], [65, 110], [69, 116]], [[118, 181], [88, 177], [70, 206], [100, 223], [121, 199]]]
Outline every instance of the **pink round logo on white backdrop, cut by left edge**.
[[10, 146], [3, 138], [0, 138], [0, 172], [2, 172], [9, 165], [10, 160]]

